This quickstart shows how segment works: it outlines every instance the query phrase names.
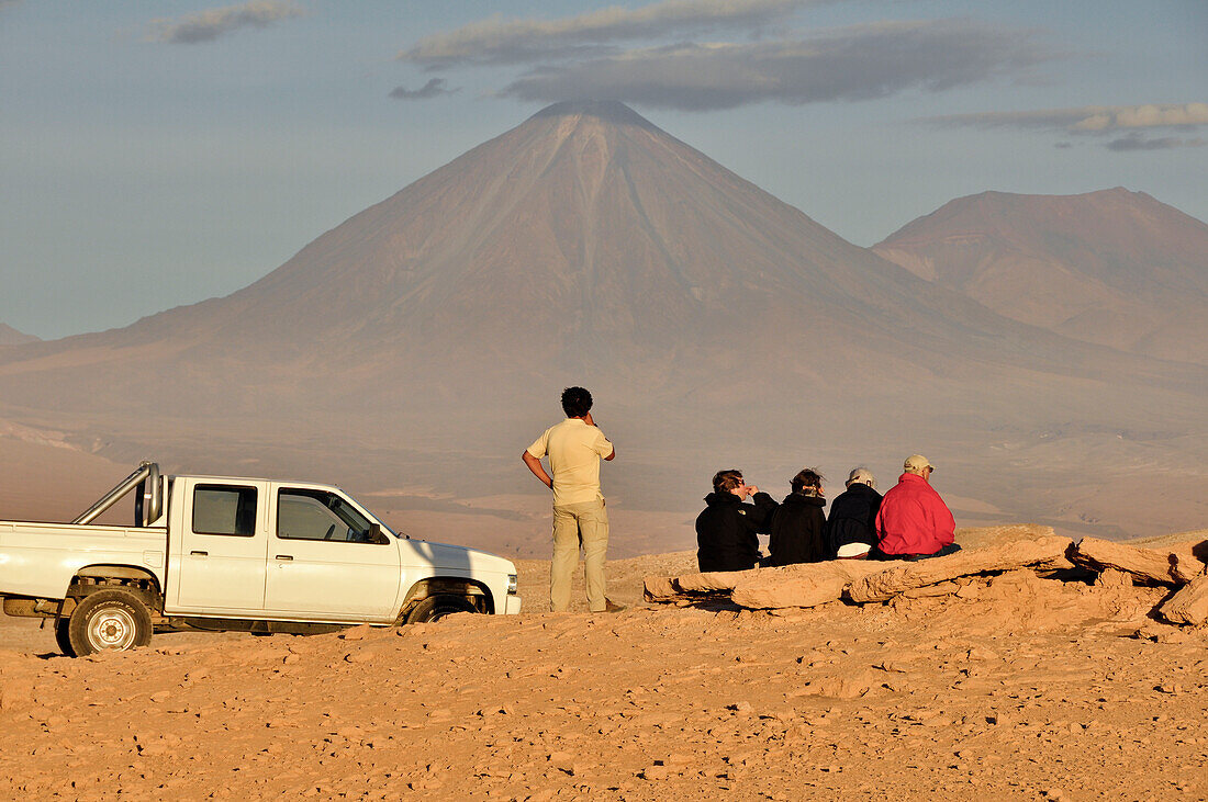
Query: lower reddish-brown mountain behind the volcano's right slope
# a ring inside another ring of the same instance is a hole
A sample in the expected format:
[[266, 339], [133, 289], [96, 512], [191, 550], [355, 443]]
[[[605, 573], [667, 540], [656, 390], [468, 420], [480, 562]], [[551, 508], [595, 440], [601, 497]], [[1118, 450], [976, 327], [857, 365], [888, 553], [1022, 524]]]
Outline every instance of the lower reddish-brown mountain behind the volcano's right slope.
[[1090, 343], [1208, 362], [1208, 224], [1140, 192], [987, 192], [873, 247], [1018, 321]]

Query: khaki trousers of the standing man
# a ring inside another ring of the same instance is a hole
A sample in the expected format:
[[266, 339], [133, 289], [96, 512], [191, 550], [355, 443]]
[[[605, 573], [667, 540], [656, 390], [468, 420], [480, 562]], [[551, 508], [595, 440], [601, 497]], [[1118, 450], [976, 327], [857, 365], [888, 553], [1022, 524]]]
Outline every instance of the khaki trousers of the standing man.
[[570, 608], [570, 576], [583, 548], [587, 608], [603, 613], [604, 555], [608, 552], [608, 510], [604, 499], [553, 508], [553, 561], [550, 563], [550, 607], [554, 613]]

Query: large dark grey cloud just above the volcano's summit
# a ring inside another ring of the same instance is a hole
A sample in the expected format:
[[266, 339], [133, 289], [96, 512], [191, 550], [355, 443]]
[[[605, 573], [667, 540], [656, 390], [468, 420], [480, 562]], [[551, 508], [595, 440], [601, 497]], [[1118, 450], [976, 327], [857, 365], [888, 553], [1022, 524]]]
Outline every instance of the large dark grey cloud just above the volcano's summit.
[[1052, 58], [1033, 31], [971, 21], [881, 22], [800, 40], [674, 45], [544, 65], [500, 94], [542, 101], [622, 100], [690, 111], [766, 100], [798, 105], [1017, 78]]

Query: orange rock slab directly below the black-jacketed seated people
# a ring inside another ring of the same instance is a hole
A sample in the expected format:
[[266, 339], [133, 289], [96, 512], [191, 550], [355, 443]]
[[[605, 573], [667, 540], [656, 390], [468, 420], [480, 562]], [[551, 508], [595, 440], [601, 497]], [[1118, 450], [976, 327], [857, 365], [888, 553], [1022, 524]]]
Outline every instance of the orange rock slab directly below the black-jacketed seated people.
[[885, 563], [875, 560], [831, 560], [744, 572], [730, 597], [756, 610], [815, 607], [837, 602], [852, 580], [884, 569]]

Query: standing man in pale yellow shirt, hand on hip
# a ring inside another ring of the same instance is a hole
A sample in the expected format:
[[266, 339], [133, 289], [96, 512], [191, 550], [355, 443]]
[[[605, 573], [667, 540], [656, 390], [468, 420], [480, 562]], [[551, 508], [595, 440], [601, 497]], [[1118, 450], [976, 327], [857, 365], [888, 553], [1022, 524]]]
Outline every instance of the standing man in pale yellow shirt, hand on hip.
[[[550, 564], [550, 607], [570, 608], [570, 575], [583, 549], [587, 607], [592, 613], [625, 609], [604, 595], [604, 555], [608, 552], [608, 511], [600, 493], [600, 459], [616, 450], [592, 420], [592, 394], [582, 387], [562, 391], [567, 420], [552, 426], [524, 450], [521, 458], [533, 475], [553, 491], [553, 561]], [[550, 457], [550, 474], [541, 457]]]

